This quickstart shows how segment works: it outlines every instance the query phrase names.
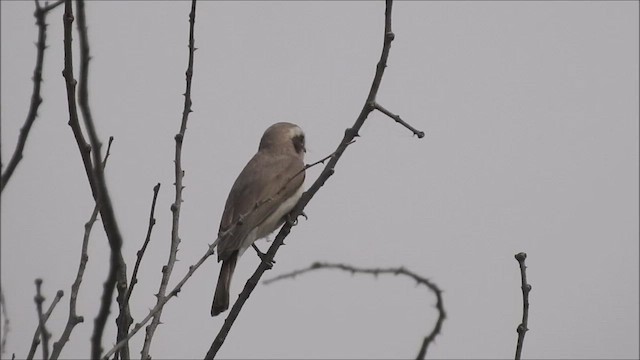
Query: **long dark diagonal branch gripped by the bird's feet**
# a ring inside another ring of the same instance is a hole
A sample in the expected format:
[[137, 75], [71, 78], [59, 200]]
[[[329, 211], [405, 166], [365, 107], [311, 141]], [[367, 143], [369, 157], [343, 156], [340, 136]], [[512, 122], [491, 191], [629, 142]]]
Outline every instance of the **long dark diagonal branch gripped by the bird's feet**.
[[[354, 138], [356, 136], [359, 136], [358, 132], [362, 127], [362, 125], [364, 124], [364, 121], [369, 116], [369, 113], [371, 113], [371, 111], [375, 109], [376, 96], [378, 94], [378, 89], [380, 88], [380, 83], [382, 81], [384, 70], [387, 66], [387, 59], [389, 57], [391, 41], [393, 41], [393, 38], [394, 38], [394, 34], [391, 30], [392, 5], [393, 5], [392, 0], [386, 0], [384, 42], [382, 46], [382, 54], [380, 55], [380, 60], [378, 61], [378, 64], [376, 66], [376, 72], [373, 78], [373, 82], [371, 84], [371, 89], [369, 90], [369, 95], [367, 96], [367, 99], [360, 112], [360, 115], [358, 115], [358, 118], [356, 119], [355, 124], [351, 128], [348, 128], [345, 131], [342, 141], [338, 145], [338, 148], [334, 152], [333, 156], [331, 156], [324, 170], [320, 173], [320, 175], [318, 176], [316, 181], [311, 185], [309, 190], [307, 190], [305, 193], [302, 194], [302, 197], [300, 198], [296, 206], [291, 211], [291, 218], [293, 219], [297, 219], [298, 216], [300, 216], [303, 213], [305, 206], [313, 198], [316, 192], [324, 185], [327, 179], [331, 177], [331, 175], [333, 175], [333, 173], [335, 172], [335, 165], [340, 160], [340, 157], [346, 150], [347, 146], [349, 146], [349, 144], [353, 142]], [[238, 314], [240, 313], [242, 306], [247, 301], [247, 299], [249, 298], [249, 295], [251, 295], [251, 292], [258, 284], [260, 278], [262, 277], [262, 274], [264, 274], [264, 272], [270, 268], [268, 264], [273, 262], [273, 258], [276, 252], [278, 251], [280, 246], [284, 243], [284, 239], [287, 237], [287, 235], [289, 235], [289, 232], [291, 231], [291, 227], [293, 225], [294, 225], [294, 222], [286, 222], [282, 227], [282, 229], [280, 230], [280, 232], [278, 233], [278, 235], [276, 236], [275, 240], [273, 241], [273, 244], [265, 254], [265, 258], [260, 263], [260, 265], [258, 265], [258, 268], [256, 269], [256, 271], [253, 273], [251, 278], [249, 278], [249, 280], [245, 284], [244, 289], [242, 290], [242, 292], [238, 297], [238, 300], [233, 304], [233, 307], [229, 311], [229, 315], [227, 316], [222, 328], [218, 332], [218, 335], [213, 340], [213, 343], [211, 344], [209, 351], [205, 355], [205, 359], [213, 359], [217, 354], [218, 350], [220, 350], [220, 347], [224, 343], [227, 335], [229, 334], [229, 331], [231, 330], [233, 323], [238, 317]]]

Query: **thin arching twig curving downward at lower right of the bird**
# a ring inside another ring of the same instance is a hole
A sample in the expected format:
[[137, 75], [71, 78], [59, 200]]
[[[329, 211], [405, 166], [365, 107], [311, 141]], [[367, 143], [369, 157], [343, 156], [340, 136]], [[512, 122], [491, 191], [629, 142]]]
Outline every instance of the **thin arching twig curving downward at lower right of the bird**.
[[427, 347], [433, 342], [435, 337], [438, 334], [440, 334], [442, 323], [444, 322], [444, 319], [446, 317], [446, 313], [444, 311], [444, 305], [442, 302], [442, 291], [440, 290], [440, 288], [438, 288], [436, 284], [431, 282], [429, 279], [426, 279], [420, 275], [417, 275], [414, 272], [409, 271], [403, 267], [388, 268], [388, 269], [380, 269], [380, 268], [362, 269], [362, 268], [353, 267], [351, 265], [330, 264], [330, 263], [320, 263], [320, 262], [313, 263], [311, 264], [311, 266], [301, 270], [295, 270], [286, 274], [278, 275], [272, 279], [264, 280], [262, 283], [267, 285], [279, 280], [293, 279], [298, 275], [302, 275], [302, 274], [305, 274], [314, 270], [320, 270], [320, 269], [338, 269], [338, 270], [350, 272], [351, 274], [369, 274], [375, 277], [377, 277], [380, 274], [404, 275], [412, 278], [418, 284], [424, 285], [428, 287], [429, 290], [433, 291], [433, 293], [436, 296], [436, 308], [438, 309], [438, 321], [436, 321], [436, 325], [434, 326], [433, 330], [431, 330], [431, 332], [427, 336], [425, 336], [424, 340], [422, 341], [422, 345], [420, 346], [420, 350], [418, 351], [417, 359], [425, 358], [427, 354]]

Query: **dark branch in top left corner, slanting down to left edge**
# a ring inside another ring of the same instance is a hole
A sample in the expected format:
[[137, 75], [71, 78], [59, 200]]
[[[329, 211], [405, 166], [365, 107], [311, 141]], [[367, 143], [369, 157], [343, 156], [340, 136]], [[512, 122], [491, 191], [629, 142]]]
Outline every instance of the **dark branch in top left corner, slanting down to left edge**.
[[2, 172], [0, 176], [0, 193], [4, 190], [5, 185], [9, 182], [11, 175], [15, 171], [20, 160], [22, 160], [22, 152], [24, 146], [27, 143], [27, 137], [31, 126], [38, 116], [38, 108], [42, 104], [42, 97], [40, 96], [40, 88], [42, 85], [42, 64], [44, 63], [44, 51], [47, 48], [47, 14], [49, 11], [55, 9], [58, 5], [62, 4], [62, 1], [56, 1], [51, 5], [42, 7], [39, 0], [35, 0], [36, 11], [33, 16], [36, 18], [36, 25], [38, 25], [38, 42], [36, 43], [36, 67], [33, 70], [33, 92], [31, 93], [31, 104], [29, 105], [29, 112], [27, 113], [27, 119], [20, 128], [20, 135], [18, 136], [18, 143], [16, 149], [11, 156], [11, 160], [7, 164], [7, 168]]

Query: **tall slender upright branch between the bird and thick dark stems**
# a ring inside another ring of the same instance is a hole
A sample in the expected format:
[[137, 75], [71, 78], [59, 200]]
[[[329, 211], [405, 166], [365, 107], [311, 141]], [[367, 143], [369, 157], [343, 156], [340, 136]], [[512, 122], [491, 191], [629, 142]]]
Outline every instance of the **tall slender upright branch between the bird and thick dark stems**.
[[[171, 226], [171, 248], [169, 251], [169, 259], [167, 265], [162, 268], [162, 279], [160, 281], [160, 288], [156, 294], [157, 303], [160, 303], [162, 298], [165, 297], [169, 278], [173, 271], [173, 266], [176, 262], [176, 256], [178, 254], [178, 245], [180, 244], [180, 234], [178, 232], [180, 226], [180, 209], [182, 207], [182, 179], [184, 177], [184, 170], [182, 170], [182, 142], [184, 141], [185, 131], [187, 130], [187, 120], [189, 119], [189, 113], [191, 110], [191, 78], [193, 76], [193, 55], [195, 52], [194, 47], [194, 27], [196, 22], [196, 0], [191, 1], [191, 12], [189, 13], [189, 60], [187, 65], [186, 77], [186, 90], [184, 93], [184, 108], [182, 110], [182, 121], [180, 123], [180, 131], [175, 136], [176, 151], [175, 151], [175, 187], [176, 196], [175, 201], [171, 205], [171, 212], [173, 213], [173, 221]], [[154, 316], [153, 321], [145, 334], [144, 345], [142, 347], [142, 359], [151, 359], [149, 356], [149, 348], [151, 347], [151, 340], [153, 335], [160, 324], [160, 317], [162, 316], [162, 308]]]

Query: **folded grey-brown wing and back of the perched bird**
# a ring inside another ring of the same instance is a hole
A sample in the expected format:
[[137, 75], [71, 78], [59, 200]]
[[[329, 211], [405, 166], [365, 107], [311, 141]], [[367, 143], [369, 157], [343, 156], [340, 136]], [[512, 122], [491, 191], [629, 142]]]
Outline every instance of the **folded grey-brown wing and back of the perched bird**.
[[[304, 181], [304, 161], [289, 154], [256, 153], [236, 179], [220, 221], [218, 261], [239, 250], [243, 239]], [[238, 222], [242, 217], [242, 222]], [[235, 227], [234, 227], [235, 225]], [[233, 227], [233, 228], [232, 228]]]

